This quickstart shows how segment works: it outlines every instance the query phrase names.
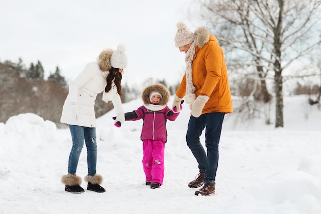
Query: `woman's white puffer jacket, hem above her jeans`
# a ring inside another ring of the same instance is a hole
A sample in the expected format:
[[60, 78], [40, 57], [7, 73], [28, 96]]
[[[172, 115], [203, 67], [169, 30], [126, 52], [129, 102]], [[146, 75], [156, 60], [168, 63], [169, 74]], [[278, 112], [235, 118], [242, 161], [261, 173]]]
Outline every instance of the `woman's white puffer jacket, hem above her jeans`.
[[[106, 77], [109, 71], [101, 71], [98, 62], [86, 65], [85, 69], [76, 77], [69, 86], [69, 93], [63, 106], [61, 122], [69, 125], [96, 127], [95, 100], [98, 93], [105, 90]], [[124, 114], [121, 97], [114, 85], [105, 93], [103, 100], [112, 101], [117, 114]], [[75, 109], [71, 109], [72, 106]], [[76, 111], [76, 118], [73, 113]]]

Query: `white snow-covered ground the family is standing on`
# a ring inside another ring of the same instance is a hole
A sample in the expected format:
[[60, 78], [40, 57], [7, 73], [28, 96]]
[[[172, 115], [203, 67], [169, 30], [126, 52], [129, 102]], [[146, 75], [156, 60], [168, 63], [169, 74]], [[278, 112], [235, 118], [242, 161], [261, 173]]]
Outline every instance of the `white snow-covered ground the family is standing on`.
[[[198, 169], [185, 142], [190, 113], [185, 104], [177, 120], [167, 123], [165, 178], [158, 189], [145, 185], [142, 121], [117, 128], [114, 110], [97, 119], [97, 173], [104, 177], [105, 193], [87, 191], [84, 181], [84, 193], [65, 192], [61, 177], [67, 173], [71, 147], [68, 129], [56, 129], [30, 113], [12, 116], [0, 123], [0, 213], [319, 214], [321, 110], [306, 99], [284, 99], [282, 129], [265, 125], [264, 116], [242, 121], [237, 113], [226, 115], [216, 195], [211, 197], [195, 196], [195, 189], [187, 186]], [[137, 99], [124, 109], [141, 105]], [[84, 148], [77, 175], [86, 174]]]

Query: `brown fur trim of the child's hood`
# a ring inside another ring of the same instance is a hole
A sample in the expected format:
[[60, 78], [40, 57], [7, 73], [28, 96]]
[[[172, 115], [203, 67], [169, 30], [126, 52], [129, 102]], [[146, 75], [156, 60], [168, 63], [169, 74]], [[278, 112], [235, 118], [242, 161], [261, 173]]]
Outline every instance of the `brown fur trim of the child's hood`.
[[162, 95], [162, 100], [160, 100], [159, 104], [160, 106], [165, 106], [167, 105], [170, 97], [170, 92], [169, 90], [160, 83], [152, 84], [150, 86], [147, 86], [143, 92], [142, 92], [142, 100], [144, 102], [144, 105], [149, 105], [149, 94], [153, 91], [158, 91]]

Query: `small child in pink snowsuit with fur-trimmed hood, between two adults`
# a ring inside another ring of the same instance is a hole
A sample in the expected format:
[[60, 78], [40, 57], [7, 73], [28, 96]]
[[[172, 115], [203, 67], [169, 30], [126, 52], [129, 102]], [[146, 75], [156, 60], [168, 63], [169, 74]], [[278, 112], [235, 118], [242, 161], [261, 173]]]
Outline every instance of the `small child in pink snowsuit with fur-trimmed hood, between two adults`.
[[[143, 141], [143, 168], [146, 185], [158, 188], [164, 179], [164, 150], [167, 141], [166, 121], [176, 120], [179, 113], [174, 113], [168, 106], [170, 92], [162, 84], [153, 84], [142, 92], [144, 105], [125, 113], [126, 121], [143, 119], [141, 140]], [[180, 106], [182, 108], [182, 106]], [[175, 110], [175, 109], [174, 109]]]

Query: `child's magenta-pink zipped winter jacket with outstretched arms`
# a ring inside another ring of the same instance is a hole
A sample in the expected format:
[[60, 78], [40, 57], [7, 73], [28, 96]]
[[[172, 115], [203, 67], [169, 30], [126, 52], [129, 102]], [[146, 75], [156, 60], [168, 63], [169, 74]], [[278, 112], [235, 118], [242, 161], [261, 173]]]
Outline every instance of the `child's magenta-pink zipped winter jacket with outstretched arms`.
[[[141, 140], [162, 140], [164, 143], [167, 141], [166, 120], [174, 121], [179, 114], [173, 113], [168, 106], [159, 111], [152, 111], [145, 106], [141, 106], [133, 112], [136, 113], [137, 118], [125, 113], [125, 119], [129, 121], [143, 119]], [[130, 112], [130, 114], [133, 114], [133, 112]]]

